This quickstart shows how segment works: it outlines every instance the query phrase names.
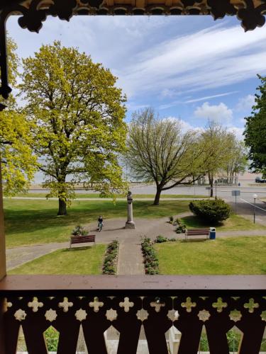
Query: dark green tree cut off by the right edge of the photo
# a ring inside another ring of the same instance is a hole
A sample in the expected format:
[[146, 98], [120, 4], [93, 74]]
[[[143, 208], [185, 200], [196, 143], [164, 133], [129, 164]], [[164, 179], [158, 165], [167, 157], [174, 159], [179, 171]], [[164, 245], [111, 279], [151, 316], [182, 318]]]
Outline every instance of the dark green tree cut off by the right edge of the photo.
[[249, 147], [250, 167], [266, 173], [266, 76], [258, 75], [261, 81], [255, 94], [255, 105], [245, 123], [245, 144]]

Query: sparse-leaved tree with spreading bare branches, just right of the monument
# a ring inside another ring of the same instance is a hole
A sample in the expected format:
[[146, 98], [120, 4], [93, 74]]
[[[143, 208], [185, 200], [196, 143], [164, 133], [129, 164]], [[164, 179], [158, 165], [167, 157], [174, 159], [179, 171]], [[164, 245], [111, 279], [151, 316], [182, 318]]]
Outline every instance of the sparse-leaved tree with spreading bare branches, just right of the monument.
[[154, 181], [159, 205], [163, 190], [204, 175], [204, 146], [196, 132], [182, 133], [179, 120], [160, 119], [147, 108], [134, 113], [128, 128], [127, 165], [136, 178]]

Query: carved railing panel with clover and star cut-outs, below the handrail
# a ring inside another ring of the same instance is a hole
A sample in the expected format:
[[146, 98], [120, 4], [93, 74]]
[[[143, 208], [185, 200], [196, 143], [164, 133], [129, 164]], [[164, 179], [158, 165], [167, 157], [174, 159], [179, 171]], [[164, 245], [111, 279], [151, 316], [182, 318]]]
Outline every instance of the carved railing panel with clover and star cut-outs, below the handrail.
[[[59, 331], [57, 353], [76, 353], [79, 328], [90, 354], [107, 354], [104, 332], [113, 326], [120, 333], [118, 354], [135, 354], [143, 324], [151, 354], [167, 354], [165, 332], [175, 326], [181, 333], [178, 354], [196, 354], [202, 327], [206, 327], [210, 352], [229, 353], [226, 333], [236, 326], [243, 332], [240, 354], [258, 354], [266, 324], [266, 297], [249, 292], [239, 297], [202, 291], [171, 291], [172, 296], [141, 297], [130, 290], [114, 297], [87, 292], [41, 292], [4, 297], [6, 353], [16, 353], [22, 326], [29, 354], [47, 354], [43, 333], [50, 326]], [[168, 291], [169, 292], [169, 291]], [[109, 293], [110, 295], [110, 293]], [[209, 295], [209, 296], [207, 296]], [[220, 296], [221, 295], [221, 296]], [[235, 292], [234, 292], [235, 295]]]

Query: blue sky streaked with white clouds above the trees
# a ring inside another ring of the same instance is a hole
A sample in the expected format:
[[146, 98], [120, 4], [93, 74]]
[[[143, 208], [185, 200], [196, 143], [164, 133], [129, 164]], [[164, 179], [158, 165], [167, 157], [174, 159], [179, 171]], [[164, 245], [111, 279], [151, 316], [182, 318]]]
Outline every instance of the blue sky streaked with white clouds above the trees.
[[266, 26], [245, 33], [236, 18], [211, 16], [79, 16], [70, 23], [48, 18], [39, 35], [7, 23], [28, 57], [41, 44], [61, 40], [79, 47], [118, 76], [128, 113], [147, 106], [162, 117], [179, 118], [184, 129], [220, 122], [241, 137], [266, 74]]

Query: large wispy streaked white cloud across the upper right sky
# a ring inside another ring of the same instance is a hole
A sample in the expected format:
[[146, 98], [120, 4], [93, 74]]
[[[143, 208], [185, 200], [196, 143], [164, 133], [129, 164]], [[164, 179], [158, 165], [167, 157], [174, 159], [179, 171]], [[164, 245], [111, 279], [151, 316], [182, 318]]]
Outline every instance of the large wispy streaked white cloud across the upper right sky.
[[[143, 91], [183, 92], [236, 84], [265, 72], [266, 28], [207, 28], [150, 46], [121, 69], [120, 83], [131, 95]], [[155, 84], [156, 83], [156, 84]]]

